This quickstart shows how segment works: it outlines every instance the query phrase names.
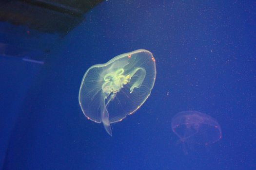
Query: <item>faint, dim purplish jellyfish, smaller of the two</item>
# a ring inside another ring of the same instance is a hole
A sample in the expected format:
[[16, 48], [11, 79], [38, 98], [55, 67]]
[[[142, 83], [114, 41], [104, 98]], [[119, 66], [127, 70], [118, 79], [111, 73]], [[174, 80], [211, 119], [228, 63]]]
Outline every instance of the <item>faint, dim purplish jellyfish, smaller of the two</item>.
[[221, 139], [222, 133], [217, 120], [197, 111], [183, 111], [172, 119], [172, 130], [186, 147], [210, 145]]

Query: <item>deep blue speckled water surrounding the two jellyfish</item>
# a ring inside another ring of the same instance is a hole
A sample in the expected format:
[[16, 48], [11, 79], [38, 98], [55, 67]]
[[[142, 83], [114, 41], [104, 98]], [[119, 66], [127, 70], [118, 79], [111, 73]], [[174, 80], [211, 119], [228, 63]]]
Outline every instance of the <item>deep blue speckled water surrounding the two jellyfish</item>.
[[[256, 169], [255, 2], [109, 0], [85, 18], [44, 65], [1, 58], [3, 170]], [[156, 84], [110, 137], [83, 116], [80, 81], [137, 49], [153, 52]], [[185, 155], [171, 129], [185, 110], [217, 119], [223, 138]]]

